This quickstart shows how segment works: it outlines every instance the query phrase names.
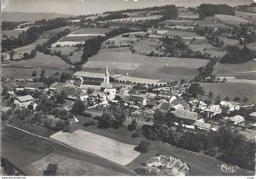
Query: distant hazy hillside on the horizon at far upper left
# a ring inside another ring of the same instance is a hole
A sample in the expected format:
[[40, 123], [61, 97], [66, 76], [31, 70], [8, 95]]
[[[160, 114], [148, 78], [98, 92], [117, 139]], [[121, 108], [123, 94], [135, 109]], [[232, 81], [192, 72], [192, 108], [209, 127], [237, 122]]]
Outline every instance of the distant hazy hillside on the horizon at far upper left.
[[2, 12], [2, 21], [37, 21], [41, 19], [63, 18], [74, 15], [62, 13], [26, 13], [26, 12]]

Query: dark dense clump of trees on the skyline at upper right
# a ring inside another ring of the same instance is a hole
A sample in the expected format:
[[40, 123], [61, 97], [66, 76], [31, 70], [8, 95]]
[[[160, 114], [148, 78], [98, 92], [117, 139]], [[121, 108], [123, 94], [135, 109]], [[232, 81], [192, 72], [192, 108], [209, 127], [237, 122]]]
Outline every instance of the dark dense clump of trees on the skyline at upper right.
[[215, 16], [215, 14], [235, 15], [235, 9], [227, 4], [201, 4], [197, 12], [201, 19], [204, 19], [205, 16]]

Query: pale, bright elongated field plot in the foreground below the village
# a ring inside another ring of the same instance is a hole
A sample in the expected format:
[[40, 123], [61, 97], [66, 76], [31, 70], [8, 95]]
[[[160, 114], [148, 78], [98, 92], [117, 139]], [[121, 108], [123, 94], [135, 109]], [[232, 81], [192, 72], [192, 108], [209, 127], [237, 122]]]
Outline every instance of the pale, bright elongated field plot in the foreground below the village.
[[139, 152], [134, 150], [136, 146], [124, 144], [84, 130], [76, 130], [73, 133], [57, 132], [50, 138], [74, 149], [93, 153], [123, 166], [129, 164], [140, 155]]

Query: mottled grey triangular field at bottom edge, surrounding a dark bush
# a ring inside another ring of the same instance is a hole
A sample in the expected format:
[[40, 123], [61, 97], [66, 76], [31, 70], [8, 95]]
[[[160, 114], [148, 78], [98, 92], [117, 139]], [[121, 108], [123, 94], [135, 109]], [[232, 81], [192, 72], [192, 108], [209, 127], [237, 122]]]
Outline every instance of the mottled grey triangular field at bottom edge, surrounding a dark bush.
[[106, 175], [116, 176], [124, 175], [119, 172], [115, 172], [112, 169], [107, 169], [96, 164], [88, 163], [87, 161], [81, 161], [67, 156], [50, 153], [44, 158], [35, 161], [24, 167], [24, 170], [33, 172], [35, 176], [43, 175], [43, 171], [47, 169], [49, 163], [58, 164], [57, 174], [59, 176], [92, 176], [92, 175]]

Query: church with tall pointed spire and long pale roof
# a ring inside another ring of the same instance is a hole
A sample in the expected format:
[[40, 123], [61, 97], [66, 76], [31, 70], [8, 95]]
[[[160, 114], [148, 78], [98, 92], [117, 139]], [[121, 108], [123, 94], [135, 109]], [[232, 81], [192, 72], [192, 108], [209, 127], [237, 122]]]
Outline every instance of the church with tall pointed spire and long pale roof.
[[104, 74], [98, 72], [77, 71], [73, 77], [81, 80], [80, 90], [102, 91], [107, 94], [108, 99], [114, 99], [116, 88], [109, 83], [110, 74], [106, 65]]

